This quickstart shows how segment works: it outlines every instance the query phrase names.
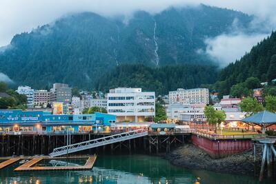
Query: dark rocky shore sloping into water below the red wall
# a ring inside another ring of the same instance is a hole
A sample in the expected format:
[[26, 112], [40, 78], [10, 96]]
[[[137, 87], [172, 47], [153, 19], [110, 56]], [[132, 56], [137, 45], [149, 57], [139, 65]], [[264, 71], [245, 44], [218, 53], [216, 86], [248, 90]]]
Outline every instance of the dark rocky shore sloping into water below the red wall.
[[[257, 154], [257, 160], [260, 161], [262, 150], [258, 150]], [[206, 152], [190, 144], [166, 154], [165, 158], [173, 165], [189, 169], [231, 174], [254, 174], [254, 155], [252, 150], [222, 159], [212, 159]]]

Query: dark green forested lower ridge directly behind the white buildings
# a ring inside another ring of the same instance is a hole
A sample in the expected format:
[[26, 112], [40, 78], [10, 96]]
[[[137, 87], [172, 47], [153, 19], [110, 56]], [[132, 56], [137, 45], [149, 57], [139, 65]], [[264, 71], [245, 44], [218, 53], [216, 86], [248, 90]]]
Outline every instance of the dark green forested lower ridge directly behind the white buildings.
[[213, 65], [182, 64], [150, 68], [141, 64], [124, 64], [108, 72], [96, 84], [97, 90], [142, 88], [157, 94], [168, 94], [177, 88], [197, 88], [201, 83], [214, 83], [217, 70]]

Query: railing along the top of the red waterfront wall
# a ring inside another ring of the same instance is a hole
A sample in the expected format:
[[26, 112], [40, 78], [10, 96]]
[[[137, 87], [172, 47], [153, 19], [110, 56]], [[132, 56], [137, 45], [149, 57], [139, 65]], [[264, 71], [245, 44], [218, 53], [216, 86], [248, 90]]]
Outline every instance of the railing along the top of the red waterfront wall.
[[203, 136], [208, 139], [217, 140], [217, 139], [259, 139], [262, 137], [262, 134], [233, 134], [233, 135], [219, 135], [219, 134], [208, 134], [205, 132], [199, 132], [197, 130], [192, 130], [193, 134], [198, 136]]

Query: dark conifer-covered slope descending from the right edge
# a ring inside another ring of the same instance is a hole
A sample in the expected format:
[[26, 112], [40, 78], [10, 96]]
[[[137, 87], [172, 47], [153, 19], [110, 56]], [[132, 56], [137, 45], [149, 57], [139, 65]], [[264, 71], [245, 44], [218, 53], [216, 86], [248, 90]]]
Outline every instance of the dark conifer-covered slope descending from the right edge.
[[255, 45], [242, 59], [222, 69], [214, 88], [221, 94], [229, 94], [232, 85], [250, 77], [268, 83], [276, 78], [276, 32]]

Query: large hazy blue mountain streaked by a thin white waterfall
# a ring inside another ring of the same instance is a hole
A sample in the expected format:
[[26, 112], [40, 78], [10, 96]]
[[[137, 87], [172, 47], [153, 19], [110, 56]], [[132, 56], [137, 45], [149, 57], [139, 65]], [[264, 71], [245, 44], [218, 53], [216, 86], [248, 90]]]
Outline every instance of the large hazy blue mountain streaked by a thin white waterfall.
[[215, 65], [199, 52], [206, 48], [205, 39], [232, 32], [234, 22], [239, 30], [251, 31], [252, 20], [242, 12], [204, 5], [158, 14], [137, 11], [132, 17], [71, 14], [15, 35], [0, 52], [0, 72], [33, 88], [55, 82], [95, 88], [117, 65]]

